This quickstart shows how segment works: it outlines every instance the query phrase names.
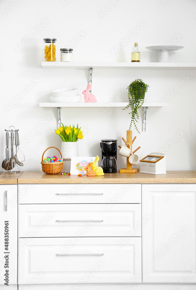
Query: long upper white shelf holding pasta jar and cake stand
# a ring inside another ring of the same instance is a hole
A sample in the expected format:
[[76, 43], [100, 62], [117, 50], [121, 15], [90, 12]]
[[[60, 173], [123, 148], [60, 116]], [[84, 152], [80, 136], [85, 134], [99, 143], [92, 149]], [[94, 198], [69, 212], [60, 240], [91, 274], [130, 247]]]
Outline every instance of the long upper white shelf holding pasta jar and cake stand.
[[99, 68], [99, 69], [196, 69], [195, 62], [63, 62], [42, 61], [42, 68]]

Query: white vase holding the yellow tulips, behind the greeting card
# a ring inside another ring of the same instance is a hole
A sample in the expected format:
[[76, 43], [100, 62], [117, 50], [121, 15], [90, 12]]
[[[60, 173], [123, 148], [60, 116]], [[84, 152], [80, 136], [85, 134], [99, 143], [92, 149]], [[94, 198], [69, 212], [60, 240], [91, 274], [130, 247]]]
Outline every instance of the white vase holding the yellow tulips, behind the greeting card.
[[78, 143], [77, 142], [62, 142], [61, 143], [61, 154], [63, 156], [63, 173], [70, 173], [71, 157], [77, 157], [78, 154]]

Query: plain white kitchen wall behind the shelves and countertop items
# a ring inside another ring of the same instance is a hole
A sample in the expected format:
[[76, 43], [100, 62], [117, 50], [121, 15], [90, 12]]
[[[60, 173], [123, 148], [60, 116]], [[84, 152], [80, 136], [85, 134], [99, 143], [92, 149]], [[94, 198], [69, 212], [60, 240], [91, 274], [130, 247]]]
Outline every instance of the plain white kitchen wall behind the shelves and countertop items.
[[[1, 0], [0, 160], [5, 158], [4, 130], [14, 125], [19, 129], [20, 142], [24, 144], [21, 151], [26, 161], [21, 169], [41, 170], [43, 151], [50, 146], [60, 149], [61, 140], [54, 131], [57, 109], [39, 108], [39, 102], [48, 102], [55, 88], [83, 84], [80, 93], [86, 88], [84, 78], [88, 78], [88, 70], [41, 68], [43, 38], [57, 38], [57, 51], [72, 47], [74, 61], [130, 61], [133, 44], [138, 42], [141, 62], [149, 62], [157, 54], [145, 49], [146, 46], [172, 42], [185, 48], [171, 52], [171, 62], [196, 62], [194, 0], [116, 0], [104, 14], [111, 2]], [[36, 31], [38, 26], [41, 28], [39, 32]], [[80, 32], [84, 36], [73, 46], [72, 39]], [[19, 43], [29, 35], [32, 39], [18, 50]], [[129, 41], [124, 47], [119, 52], [112, 52], [126, 37]], [[193, 76], [182, 85], [181, 80], [189, 71]], [[137, 78], [150, 86], [146, 101], [160, 102], [173, 91], [175, 94], [168, 97], [168, 107], [148, 109], [147, 130], [141, 135], [135, 133], [137, 139], [133, 148], [141, 146], [138, 151], [141, 158], [168, 146], [167, 170], [190, 170], [195, 168], [196, 162], [195, 75], [195, 70], [98, 70], [93, 77], [92, 93], [98, 102], [109, 103], [116, 97], [120, 102], [126, 102], [128, 94], [122, 94], [122, 91]], [[33, 79], [37, 83], [26, 93], [24, 87], [29, 86]], [[179, 88], [177, 92], [175, 87]], [[19, 94], [23, 97], [17, 98]], [[15, 98], [18, 101], [10, 108]], [[66, 125], [79, 123], [86, 131], [84, 138], [79, 140], [80, 155], [101, 156], [101, 139], [116, 138], [121, 142], [121, 137], [126, 137], [130, 125], [128, 112], [121, 108], [111, 108], [107, 113], [103, 108], [63, 108], [61, 119]], [[39, 124], [42, 124], [41, 128]], [[35, 135], [28, 141], [32, 131]], [[177, 140], [175, 143], [171, 141], [173, 138]], [[126, 158], [118, 155], [117, 160], [118, 168], [126, 166]]]

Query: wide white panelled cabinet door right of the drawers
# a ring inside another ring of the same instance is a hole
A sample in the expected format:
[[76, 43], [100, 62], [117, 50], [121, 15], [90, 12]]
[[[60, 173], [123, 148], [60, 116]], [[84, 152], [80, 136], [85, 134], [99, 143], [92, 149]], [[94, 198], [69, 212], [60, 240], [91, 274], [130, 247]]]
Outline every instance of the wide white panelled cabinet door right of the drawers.
[[142, 185], [143, 282], [196, 282], [196, 185]]

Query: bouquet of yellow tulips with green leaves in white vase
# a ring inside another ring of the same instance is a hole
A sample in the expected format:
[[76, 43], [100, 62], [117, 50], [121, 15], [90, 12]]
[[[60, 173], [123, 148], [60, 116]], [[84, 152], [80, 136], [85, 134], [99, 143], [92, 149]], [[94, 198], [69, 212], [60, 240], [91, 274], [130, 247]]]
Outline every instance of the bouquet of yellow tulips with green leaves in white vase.
[[55, 133], [61, 137], [63, 142], [76, 142], [78, 139], [83, 138], [82, 132], [80, 131], [81, 127], [78, 128], [78, 124], [77, 128], [75, 128], [74, 125], [73, 127], [71, 127], [71, 125], [69, 127], [64, 126], [63, 123], [61, 123], [61, 125], [62, 127], [55, 130]]

